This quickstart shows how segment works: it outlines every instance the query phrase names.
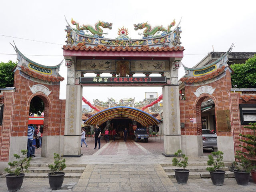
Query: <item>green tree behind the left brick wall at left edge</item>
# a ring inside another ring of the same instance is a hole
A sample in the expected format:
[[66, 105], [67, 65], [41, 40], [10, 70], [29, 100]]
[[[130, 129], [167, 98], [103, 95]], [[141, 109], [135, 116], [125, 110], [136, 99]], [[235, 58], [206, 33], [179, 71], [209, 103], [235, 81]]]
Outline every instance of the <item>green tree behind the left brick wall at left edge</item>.
[[17, 62], [0, 63], [0, 88], [12, 87], [14, 82], [13, 68], [17, 65]]

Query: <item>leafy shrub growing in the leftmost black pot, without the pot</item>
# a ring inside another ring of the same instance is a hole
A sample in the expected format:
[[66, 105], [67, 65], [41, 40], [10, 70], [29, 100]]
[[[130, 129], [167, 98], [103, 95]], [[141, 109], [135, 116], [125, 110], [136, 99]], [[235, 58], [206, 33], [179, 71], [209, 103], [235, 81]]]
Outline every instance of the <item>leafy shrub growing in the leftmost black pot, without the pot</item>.
[[13, 156], [18, 159], [18, 161], [8, 162], [10, 167], [4, 169], [5, 172], [9, 174], [15, 174], [18, 176], [21, 172], [28, 172], [28, 167], [30, 166], [31, 157], [27, 158], [28, 150], [21, 150], [22, 156], [18, 154], [13, 154]]

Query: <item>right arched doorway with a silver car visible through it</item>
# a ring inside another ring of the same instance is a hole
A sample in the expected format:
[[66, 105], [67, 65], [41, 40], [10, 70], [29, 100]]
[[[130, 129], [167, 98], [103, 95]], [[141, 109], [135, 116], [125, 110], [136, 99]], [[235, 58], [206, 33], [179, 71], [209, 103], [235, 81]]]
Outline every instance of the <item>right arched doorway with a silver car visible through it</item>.
[[204, 149], [217, 148], [217, 128], [215, 114], [216, 99], [209, 94], [202, 94], [195, 102], [196, 133], [198, 138], [198, 154], [203, 155]]

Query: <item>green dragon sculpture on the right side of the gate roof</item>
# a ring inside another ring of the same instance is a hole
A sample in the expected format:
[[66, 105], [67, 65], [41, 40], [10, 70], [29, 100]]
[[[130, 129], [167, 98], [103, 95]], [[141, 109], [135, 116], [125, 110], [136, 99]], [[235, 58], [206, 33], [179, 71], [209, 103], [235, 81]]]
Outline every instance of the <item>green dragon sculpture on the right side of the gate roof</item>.
[[152, 28], [150, 26], [150, 24], [148, 24], [148, 22], [146, 22], [146, 23], [134, 24], [134, 27], [135, 27], [134, 30], [146, 28], [143, 31], [143, 33], [139, 33], [139, 35], [144, 35], [143, 38], [152, 38], [152, 37], [154, 37], [153, 35], [156, 34], [156, 32], [162, 31], [163, 33], [160, 36], [163, 36], [163, 35], [166, 35], [166, 34], [172, 32], [171, 27], [174, 25], [175, 25], [175, 20], [173, 20], [173, 22], [171, 22], [171, 24], [168, 25], [167, 29], [164, 28], [162, 25]]

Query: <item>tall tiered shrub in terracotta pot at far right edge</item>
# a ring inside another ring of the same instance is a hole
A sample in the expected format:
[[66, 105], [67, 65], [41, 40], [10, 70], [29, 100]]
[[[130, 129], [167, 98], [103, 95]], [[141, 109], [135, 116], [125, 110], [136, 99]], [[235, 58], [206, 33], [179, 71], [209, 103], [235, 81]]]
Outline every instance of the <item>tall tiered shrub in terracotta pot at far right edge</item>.
[[[251, 169], [252, 180], [256, 183], [256, 123], [249, 123], [250, 126], [244, 126], [244, 128], [248, 128], [252, 130], [252, 134], [239, 134], [245, 139], [239, 139], [244, 145], [239, 145], [245, 151], [238, 151], [240, 156], [244, 156], [246, 160], [249, 162], [249, 167]], [[247, 169], [247, 171], [250, 171]]]

